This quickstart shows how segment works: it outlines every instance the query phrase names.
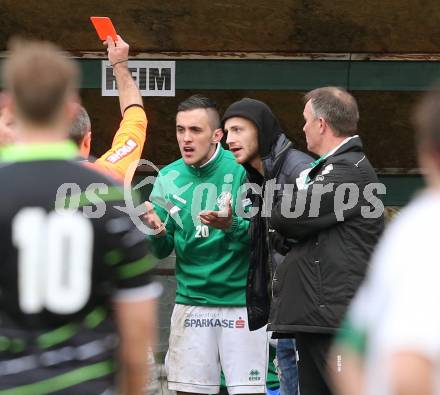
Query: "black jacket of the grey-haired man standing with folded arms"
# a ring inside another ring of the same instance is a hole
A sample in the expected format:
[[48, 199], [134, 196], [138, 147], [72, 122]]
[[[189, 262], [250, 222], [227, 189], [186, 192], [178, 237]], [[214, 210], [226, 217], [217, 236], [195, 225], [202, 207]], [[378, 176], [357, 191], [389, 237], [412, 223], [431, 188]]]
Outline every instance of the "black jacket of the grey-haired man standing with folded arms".
[[[291, 241], [273, 277], [269, 329], [278, 333], [333, 333], [383, 230], [377, 195], [385, 193], [384, 187], [359, 137], [314, 167], [309, 179], [307, 189], [279, 195], [272, 211], [271, 225]], [[302, 204], [304, 213], [288, 218], [286, 207], [293, 212]]]

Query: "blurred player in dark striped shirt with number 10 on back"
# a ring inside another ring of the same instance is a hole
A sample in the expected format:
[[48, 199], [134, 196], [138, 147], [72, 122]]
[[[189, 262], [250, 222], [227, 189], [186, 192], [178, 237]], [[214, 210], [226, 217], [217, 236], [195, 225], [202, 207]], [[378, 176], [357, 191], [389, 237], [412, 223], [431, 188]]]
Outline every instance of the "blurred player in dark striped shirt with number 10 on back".
[[48, 43], [17, 44], [3, 67], [20, 144], [0, 152], [2, 395], [110, 394], [116, 370], [123, 393], [141, 394], [147, 379], [153, 261], [115, 208], [122, 191], [75, 160], [77, 77]]

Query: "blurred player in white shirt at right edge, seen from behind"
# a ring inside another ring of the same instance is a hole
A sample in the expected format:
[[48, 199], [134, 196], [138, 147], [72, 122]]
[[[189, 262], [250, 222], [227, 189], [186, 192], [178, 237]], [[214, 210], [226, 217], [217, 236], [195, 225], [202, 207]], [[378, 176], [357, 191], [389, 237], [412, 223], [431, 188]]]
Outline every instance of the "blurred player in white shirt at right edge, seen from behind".
[[387, 228], [333, 358], [339, 394], [440, 394], [440, 91], [416, 111], [427, 188]]

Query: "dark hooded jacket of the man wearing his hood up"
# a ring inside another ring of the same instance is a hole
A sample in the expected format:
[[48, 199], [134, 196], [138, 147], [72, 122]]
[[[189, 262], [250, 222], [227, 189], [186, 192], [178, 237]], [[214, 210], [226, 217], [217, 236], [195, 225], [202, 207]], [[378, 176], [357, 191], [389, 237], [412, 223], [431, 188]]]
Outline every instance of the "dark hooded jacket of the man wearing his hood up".
[[[263, 177], [253, 167], [244, 165], [249, 182], [259, 185], [263, 191], [263, 194], [252, 193], [249, 195], [252, 206], [258, 208], [258, 214], [251, 218], [250, 225], [251, 251], [246, 305], [249, 328], [256, 330], [268, 322], [273, 270], [276, 264], [284, 259], [275, 251], [274, 244], [278, 246], [278, 250], [287, 252], [285, 250], [287, 241], [269, 229], [272, 204], [270, 199], [266, 199], [267, 206], [263, 207], [263, 196], [270, 189], [266, 186], [269, 185], [268, 181], [271, 184], [291, 183], [295, 185], [299, 173], [310, 168], [313, 159], [293, 148], [292, 142], [284, 135], [278, 120], [263, 102], [248, 98], [242, 99], [226, 110], [223, 122], [231, 117], [243, 117], [256, 125], [259, 151], [264, 168]], [[279, 191], [275, 192], [273, 201], [275, 201], [277, 193]], [[267, 215], [262, 215], [262, 211]]]

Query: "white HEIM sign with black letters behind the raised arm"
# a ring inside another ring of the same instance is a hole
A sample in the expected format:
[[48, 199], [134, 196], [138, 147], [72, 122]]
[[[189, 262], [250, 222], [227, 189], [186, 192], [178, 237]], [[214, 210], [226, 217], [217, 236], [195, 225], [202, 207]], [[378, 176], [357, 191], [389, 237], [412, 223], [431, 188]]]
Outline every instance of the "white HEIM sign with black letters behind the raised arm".
[[[102, 96], [119, 96], [116, 77], [110, 63], [102, 61]], [[176, 62], [158, 60], [129, 60], [128, 69], [142, 96], [176, 95]]]

